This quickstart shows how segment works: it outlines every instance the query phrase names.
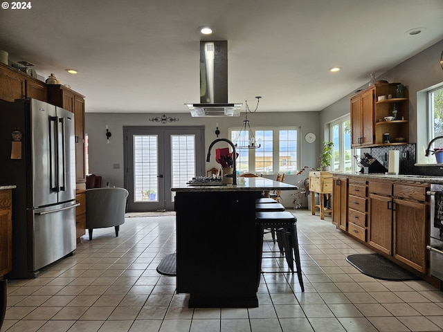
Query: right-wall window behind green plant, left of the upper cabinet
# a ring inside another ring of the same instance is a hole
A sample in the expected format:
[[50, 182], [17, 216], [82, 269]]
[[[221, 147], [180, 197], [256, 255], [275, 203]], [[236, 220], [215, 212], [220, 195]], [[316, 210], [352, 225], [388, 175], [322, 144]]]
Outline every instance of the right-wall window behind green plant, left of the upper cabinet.
[[351, 121], [350, 117], [340, 118], [329, 125], [332, 148], [332, 171], [352, 171]]

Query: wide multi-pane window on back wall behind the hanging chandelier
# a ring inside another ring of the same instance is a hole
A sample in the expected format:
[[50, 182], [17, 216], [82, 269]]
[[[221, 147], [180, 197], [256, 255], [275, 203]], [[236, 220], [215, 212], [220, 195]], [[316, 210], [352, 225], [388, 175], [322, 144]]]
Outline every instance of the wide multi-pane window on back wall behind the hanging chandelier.
[[[239, 128], [231, 128], [235, 143]], [[246, 133], [247, 134], [247, 133]], [[273, 174], [298, 171], [300, 129], [298, 127], [257, 128], [254, 131], [257, 149], [237, 149], [237, 171], [242, 173]], [[278, 138], [278, 139], [275, 139]]]

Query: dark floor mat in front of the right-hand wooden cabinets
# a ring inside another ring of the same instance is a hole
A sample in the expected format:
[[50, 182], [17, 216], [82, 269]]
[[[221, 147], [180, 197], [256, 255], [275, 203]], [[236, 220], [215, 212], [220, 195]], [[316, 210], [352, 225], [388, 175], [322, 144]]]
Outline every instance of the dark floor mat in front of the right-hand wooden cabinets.
[[377, 254], [349, 255], [346, 260], [361, 273], [383, 280], [414, 280], [419, 279], [413, 273], [401, 268], [389, 259]]

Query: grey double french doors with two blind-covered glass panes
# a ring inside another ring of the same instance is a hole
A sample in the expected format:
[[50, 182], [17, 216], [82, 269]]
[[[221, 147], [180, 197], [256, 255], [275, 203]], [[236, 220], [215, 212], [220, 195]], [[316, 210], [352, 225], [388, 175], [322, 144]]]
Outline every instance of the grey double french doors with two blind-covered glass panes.
[[174, 210], [172, 187], [204, 173], [204, 127], [123, 127], [128, 211]]

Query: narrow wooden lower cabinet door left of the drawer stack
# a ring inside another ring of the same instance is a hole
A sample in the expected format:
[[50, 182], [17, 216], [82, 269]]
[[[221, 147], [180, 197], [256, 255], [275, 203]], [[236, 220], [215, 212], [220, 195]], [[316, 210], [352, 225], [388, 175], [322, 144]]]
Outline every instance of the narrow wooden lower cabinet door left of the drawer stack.
[[332, 223], [347, 231], [347, 178], [332, 177]]

